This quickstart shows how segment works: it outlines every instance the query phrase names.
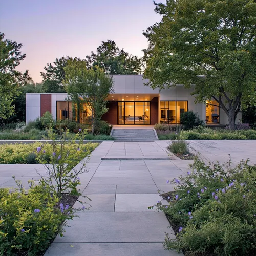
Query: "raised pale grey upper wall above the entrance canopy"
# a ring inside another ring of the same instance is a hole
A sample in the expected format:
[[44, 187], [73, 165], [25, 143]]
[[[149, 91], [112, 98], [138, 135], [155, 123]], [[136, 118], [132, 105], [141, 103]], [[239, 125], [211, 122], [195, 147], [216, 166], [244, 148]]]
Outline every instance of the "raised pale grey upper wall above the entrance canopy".
[[159, 93], [158, 89], [145, 86], [144, 83], [148, 79], [143, 79], [143, 75], [113, 75], [114, 79], [114, 94], [144, 94], [144, 93]]

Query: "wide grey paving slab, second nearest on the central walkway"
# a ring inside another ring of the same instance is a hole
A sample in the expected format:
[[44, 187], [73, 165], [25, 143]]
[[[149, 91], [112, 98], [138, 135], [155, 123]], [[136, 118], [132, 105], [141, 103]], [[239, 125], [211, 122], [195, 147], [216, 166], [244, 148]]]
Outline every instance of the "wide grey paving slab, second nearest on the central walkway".
[[68, 221], [54, 243], [164, 242], [170, 233], [163, 212], [88, 212]]

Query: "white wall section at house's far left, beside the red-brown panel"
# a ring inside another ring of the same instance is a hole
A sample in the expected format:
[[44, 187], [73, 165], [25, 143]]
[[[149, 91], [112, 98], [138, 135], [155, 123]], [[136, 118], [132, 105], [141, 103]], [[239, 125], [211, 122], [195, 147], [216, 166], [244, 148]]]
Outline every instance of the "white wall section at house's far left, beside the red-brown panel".
[[41, 94], [26, 94], [26, 124], [34, 121], [41, 114]]

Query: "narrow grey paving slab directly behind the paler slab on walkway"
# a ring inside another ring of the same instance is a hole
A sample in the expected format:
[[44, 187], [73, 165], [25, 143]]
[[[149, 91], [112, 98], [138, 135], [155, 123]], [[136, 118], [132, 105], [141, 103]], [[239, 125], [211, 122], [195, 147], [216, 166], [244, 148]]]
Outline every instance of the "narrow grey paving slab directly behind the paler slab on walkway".
[[156, 185], [117, 185], [116, 194], [158, 194]]

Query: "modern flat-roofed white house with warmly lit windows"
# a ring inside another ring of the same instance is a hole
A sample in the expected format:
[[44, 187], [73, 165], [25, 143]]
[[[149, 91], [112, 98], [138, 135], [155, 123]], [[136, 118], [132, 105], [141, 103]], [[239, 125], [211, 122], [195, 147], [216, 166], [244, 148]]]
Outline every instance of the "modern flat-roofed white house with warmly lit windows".
[[[110, 124], [179, 123], [181, 113], [192, 110], [208, 124], [227, 124], [228, 118], [216, 101], [195, 103], [193, 86], [182, 85], [161, 91], [145, 86], [148, 79], [142, 75], [113, 75], [114, 93], [108, 100], [108, 112], [102, 120]], [[66, 93], [27, 93], [26, 123], [49, 111], [57, 120], [86, 122], [90, 110], [81, 103], [67, 101]], [[237, 122], [241, 113], [237, 116]]]

